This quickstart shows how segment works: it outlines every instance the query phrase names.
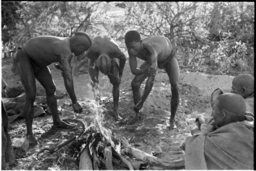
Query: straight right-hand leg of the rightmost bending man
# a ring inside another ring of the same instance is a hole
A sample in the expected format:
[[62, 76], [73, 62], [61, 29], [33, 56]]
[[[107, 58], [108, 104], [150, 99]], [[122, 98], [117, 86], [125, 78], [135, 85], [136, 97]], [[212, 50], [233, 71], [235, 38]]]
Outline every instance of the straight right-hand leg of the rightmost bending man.
[[175, 114], [179, 105], [179, 76], [180, 69], [176, 58], [169, 59], [165, 66], [166, 72], [169, 77], [170, 86], [172, 90], [170, 99], [170, 129], [174, 129], [175, 126]]

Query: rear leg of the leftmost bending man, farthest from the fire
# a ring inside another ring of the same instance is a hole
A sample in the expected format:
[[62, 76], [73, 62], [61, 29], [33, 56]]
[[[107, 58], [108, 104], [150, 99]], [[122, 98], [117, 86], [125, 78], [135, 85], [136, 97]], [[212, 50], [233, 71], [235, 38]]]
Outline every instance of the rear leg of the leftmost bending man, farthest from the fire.
[[33, 66], [28, 55], [21, 49], [15, 54], [16, 67], [18, 67], [20, 80], [25, 88], [26, 99], [24, 105], [24, 116], [27, 125], [27, 139], [29, 144], [34, 146], [37, 144], [32, 132], [33, 123], [33, 104], [36, 95], [36, 84]]

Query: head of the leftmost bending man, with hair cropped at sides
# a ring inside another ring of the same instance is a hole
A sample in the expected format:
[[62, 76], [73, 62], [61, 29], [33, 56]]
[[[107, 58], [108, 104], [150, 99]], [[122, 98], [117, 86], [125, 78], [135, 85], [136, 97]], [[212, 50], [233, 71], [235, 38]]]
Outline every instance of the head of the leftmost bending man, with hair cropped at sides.
[[92, 45], [92, 41], [86, 32], [76, 32], [71, 37], [71, 51], [76, 56], [81, 55]]

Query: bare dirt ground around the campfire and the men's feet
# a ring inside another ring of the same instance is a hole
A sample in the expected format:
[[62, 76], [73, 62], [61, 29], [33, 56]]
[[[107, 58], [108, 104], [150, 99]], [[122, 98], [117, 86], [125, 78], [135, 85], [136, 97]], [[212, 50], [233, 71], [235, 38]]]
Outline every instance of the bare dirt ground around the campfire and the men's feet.
[[[2, 60], [2, 77], [9, 87], [22, 86], [18, 76], [11, 72], [12, 61]], [[72, 64], [75, 65], [74, 63]], [[66, 92], [63, 79], [59, 70], [50, 66], [52, 77], [57, 87], [57, 93]], [[125, 119], [135, 116], [134, 102], [131, 89], [133, 75], [129, 63], [126, 62], [120, 85], [119, 113]], [[66, 147], [54, 154], [44, 157], [36, 156], [42, 148], [56, 146], [72, 136], [81, 132], [81, 124], [77, 119], [93, 117], [93, 94], [88, 88], [89, 74], [74, 77], [75, 93], [83, 108], [81, 114], [73, 112], [69, 96], [58, 100], [60, 117], [77, 125], [73, 130], [52, 130], [52, 117], [50, 114], [39, 116], [33, 120], [33, 132], [39, 145], [30, 148], [26, 154], [17, 156], [17, 162], [10, 169], [78, 169], [78, 161], [74, 153]], [[114, 120], [112, 105], [112, 85], [108, 77], [100, 74], [101, 99], [104, 100], [107, 111], [105, 112], [104, 127], [111, 129], [117, 137], [132, 140], [132, 145], [148, 154], [158, 154], [157, 157], [167, 160], [176, 160], [184, 157], [184, 152], [179, 149], [180, 144], [189, 135], [189, 131], [196, 117], [209, 115], [211, 112], [209, 96], [216, 88], [230, 89], [231, 76], [205, 75], [200, 72], [187, 72], [181, 70], [180, 74], [180, 104], [176, 114], [174, 130], [168, 130], [170, 117], [170, 84], [167, 74], [159, 70], [154, 87], [147, 97], [142, 109], [142, 120], [132, 125], [124, 125]], [[142, 88], [144, 87], [142, 85]], [[40, 85], [37, 82], [37, 87]], [[5, 99], [5, 98], [3, 98]], [[9, 125], [11, 139], [25, 137], [26, 124], [24, 119], [17, 119]]]

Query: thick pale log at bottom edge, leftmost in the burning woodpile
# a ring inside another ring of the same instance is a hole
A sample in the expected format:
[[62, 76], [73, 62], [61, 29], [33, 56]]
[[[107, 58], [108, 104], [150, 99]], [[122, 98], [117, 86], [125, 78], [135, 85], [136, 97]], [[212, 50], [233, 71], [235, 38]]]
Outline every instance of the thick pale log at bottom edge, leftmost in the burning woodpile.
[[93, 163], [90, 157], [88, 145], [84, 148], [82, 154], [80, 155], [79, 170], [93, 170]]

